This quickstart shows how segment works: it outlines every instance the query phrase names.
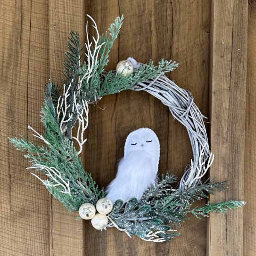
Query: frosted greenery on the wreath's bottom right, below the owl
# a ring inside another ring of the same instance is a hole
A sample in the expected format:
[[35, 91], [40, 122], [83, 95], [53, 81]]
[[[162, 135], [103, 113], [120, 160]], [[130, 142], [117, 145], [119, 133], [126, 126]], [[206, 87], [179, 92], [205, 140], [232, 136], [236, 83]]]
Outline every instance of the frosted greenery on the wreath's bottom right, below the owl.
[[148, 188], [140, 203], [136, 198], [131, 198], [126, 204], [123, 204], [122, 200], [117, 200], [109, 218], [120, 230], [125, 229], [130, 235], [137, 234], [149, 241], [152, 238], [170, 241], [171, 238], [179, 236], [179, 233], [175, 232], [176, 228], [182, 228], [182, 222], [189, 219], [186, 215], [188, 213], [200, 218], [200, 215], [208, 217], [210, 211], [226, 212], [227, 209], [244, 206], [243, 201], [215, 204], [208, 201], [204, 207], [190, 209], [195, 201], [208, 198], [207, 193], [215, 195], [216, 191], [226, 189], [225, 182], [215, 183], [214, 179], [208, 181], [180, 191], [172, 187], [176, 178], [167, 172], [166, 175], [162, 175], [162, 179], [157, 178], [154, 186]]

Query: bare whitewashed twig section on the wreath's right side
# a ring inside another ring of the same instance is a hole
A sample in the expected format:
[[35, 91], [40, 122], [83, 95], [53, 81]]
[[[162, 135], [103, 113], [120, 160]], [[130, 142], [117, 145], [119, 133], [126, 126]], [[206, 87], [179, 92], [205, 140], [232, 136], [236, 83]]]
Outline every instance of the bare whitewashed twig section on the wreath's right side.
[[[208, 137], [203, 118], [205, 118], [195, 105], [192, 94], [177, 86], [165, 75], [153, 81], [139, 82], [133, 90], [145, 90], [168, 106], [172, 116], [181, 122], [187, 129], [192, 145], [194, 161], [185, 170], [180, 181], [179, 189], [198, 185], [214, 160], [209, 150]], [[205, 163], [207, 162], [207, 166]]]

